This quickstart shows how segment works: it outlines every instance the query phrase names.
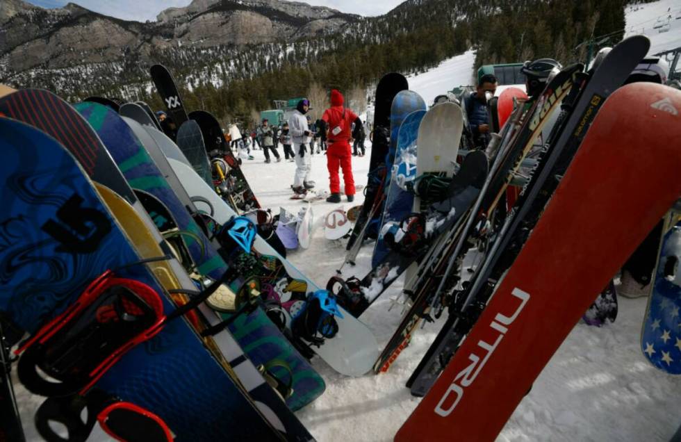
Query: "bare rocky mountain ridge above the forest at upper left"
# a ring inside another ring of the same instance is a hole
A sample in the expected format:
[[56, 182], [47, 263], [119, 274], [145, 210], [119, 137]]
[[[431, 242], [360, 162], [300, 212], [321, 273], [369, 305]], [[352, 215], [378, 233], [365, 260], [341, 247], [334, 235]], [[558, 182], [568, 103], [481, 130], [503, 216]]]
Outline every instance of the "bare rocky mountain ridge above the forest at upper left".
[[194, 0], [186, 8], [164, 10], [156, 22], [140, 23], [106, 17], [74, 3], [47, 10], [22, 0], [2, 0], [0, 81], [31, 85], [31, 79], [40, 79], [61, 83], [69, 93], [65, 74], [74, 69], [91, 78], [94, 74], [95, 79], [115, 74], [125, 80], [129, 68], [139, 63], [186, 58], [215, 47], [238, 51], [255, 44], [315, 38], [337, 33], [359, 19], [300, 2]]

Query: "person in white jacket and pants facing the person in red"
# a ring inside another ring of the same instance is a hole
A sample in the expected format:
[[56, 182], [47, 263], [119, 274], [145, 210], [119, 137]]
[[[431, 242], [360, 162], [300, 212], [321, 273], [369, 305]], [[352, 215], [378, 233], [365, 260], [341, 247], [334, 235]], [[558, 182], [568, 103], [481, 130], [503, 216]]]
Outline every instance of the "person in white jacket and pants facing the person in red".
[[288, 129], [293, 141], [293, 152], [295, 152], [295, 176], [293, 177], [293, 191], [295, 193], [306, 193], [307, 189], [314, 187], [314, 183], [309, 181], [312, 170], [310, 156], [311, 131], [307, 125], [305, 114], [310, 108], [307, 99], [298, 101], [298, 105], [288, 120]]

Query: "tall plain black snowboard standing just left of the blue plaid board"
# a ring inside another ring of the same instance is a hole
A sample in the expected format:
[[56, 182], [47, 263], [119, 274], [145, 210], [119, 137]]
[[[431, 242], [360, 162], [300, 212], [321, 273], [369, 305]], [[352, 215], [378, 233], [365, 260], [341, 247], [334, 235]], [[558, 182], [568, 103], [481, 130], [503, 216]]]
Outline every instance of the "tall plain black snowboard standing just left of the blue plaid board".
[[[376, 86], [376, 96], [374, 104], [374, 124], [371, 138], [371, 156], [369, 159], [369, 173], [364, 193], [364, 204], [359, 213], [359, 217], [354, 224], [350, 239], [347, 241], [347, 250], [352, 250], [356, 241], [359, 245], [366, 232], [365, 224], [372, 208], [379, 203], [382, 193], [382, 186], [386, 175], [386, 155], [390, 149], [390, 115], [391, 106], [395, 95], [401, 90], [409, 89], [409, 83], [402, 74], [391, 72], [384, 75]], [[378, 199], [378, 200], [377, 200]], [[373, 213], [378, 213], [374, 211]], [[380, 213], [379, 213], [380, 215]], [[372, 215], [375, 216], [375, 215]], [[359, 251], [359, 249], [357, 249]], [[356, 256], [356, 252], [354, 252]], [[352, 262], [354, 256], [349, 256], [346, 261]]]

